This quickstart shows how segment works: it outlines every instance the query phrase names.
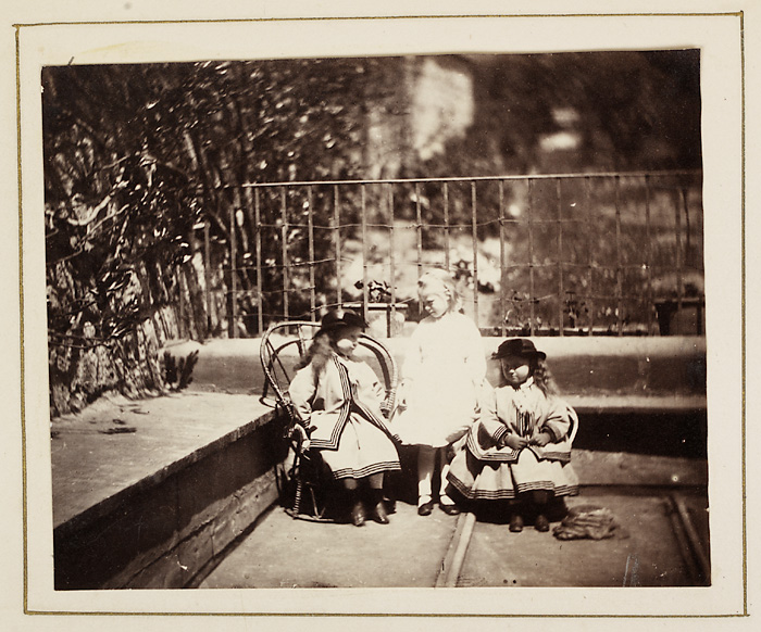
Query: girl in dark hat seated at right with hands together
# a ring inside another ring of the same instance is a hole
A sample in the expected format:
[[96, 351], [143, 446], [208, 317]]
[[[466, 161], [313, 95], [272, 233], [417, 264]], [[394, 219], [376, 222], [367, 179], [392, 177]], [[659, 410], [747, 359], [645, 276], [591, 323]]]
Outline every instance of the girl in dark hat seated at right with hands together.
[[546, 354], [531, 340], [499, 345], [502, 381], [467, 435], [466, 448], [449, 469], [449, 483], [476, 501], [512, 501], [510, 531], [523, 530], [531, 506], [535, 528], [548, 531], [553, 497], [578, 493], [571, 442], [578, 424], [573, 408], [550, 392]]

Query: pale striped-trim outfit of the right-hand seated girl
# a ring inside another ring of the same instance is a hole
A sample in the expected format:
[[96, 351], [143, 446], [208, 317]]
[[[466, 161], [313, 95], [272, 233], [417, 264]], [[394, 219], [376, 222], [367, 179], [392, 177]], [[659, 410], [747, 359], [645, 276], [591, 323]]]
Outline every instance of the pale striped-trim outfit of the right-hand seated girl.
[[[576, 413], [565, 402], [548, 397], [529, 378], [521, 388], [500, 387], [487, 397], [465, 450], [451, 463], [448, 480], [467, 498], [507, 500], [545, 490], [556, 496], [576, 495], [578, 478], [571, 466]], [[548, 432], [546, 446], [515, 451], [500, 441], [508, 433], [531, 438]]]

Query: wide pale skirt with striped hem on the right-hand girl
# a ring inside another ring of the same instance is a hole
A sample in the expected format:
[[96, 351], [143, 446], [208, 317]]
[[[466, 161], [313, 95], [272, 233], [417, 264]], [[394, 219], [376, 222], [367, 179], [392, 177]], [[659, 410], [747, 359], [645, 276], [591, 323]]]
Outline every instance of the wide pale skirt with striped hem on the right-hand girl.
[[531, 450], [521, 451], [515, 463], [483, 462], [465, 450], [452, 460], [447, 478], [463, 496], [475, 500], [514, 498], [532, 491], [556, 496], [578, 493], [578, 478], [571, 464], [539, 460]]

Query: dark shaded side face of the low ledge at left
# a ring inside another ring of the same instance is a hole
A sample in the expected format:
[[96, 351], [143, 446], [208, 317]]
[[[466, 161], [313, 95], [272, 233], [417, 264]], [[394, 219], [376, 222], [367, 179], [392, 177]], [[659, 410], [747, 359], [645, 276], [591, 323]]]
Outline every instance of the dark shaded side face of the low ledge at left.
[[[53, 530], [55, 589], [187, 585], [277, 500], [287, 453], [280, 421], [265, 412], [61, 521]], [[172, 432], [164, 428], [164, 435], [170, 444]], [[70, 435], [76, 440], [111, 438]], [[59, 454], [59, 471], [61, 460]]]

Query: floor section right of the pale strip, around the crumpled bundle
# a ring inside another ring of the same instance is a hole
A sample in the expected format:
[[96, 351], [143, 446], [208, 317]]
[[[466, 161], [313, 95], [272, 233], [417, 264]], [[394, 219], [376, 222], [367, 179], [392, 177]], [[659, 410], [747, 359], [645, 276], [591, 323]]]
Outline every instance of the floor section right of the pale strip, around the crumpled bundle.
[[[696, 522], [708, 523], [704, 496], [691, 495]], [[503, 521], [478, 521], [459, 586], [685, 586], [699, 578], [682, 553], [663, 495], [586, 491], [569, 506], [610, 509], [625, 536], [559, 541], [527, 527], [510, 533]], [[708, 542], [706, 541], [706, 545]], [[699, 584], [698, 584], [699, 585]]]

